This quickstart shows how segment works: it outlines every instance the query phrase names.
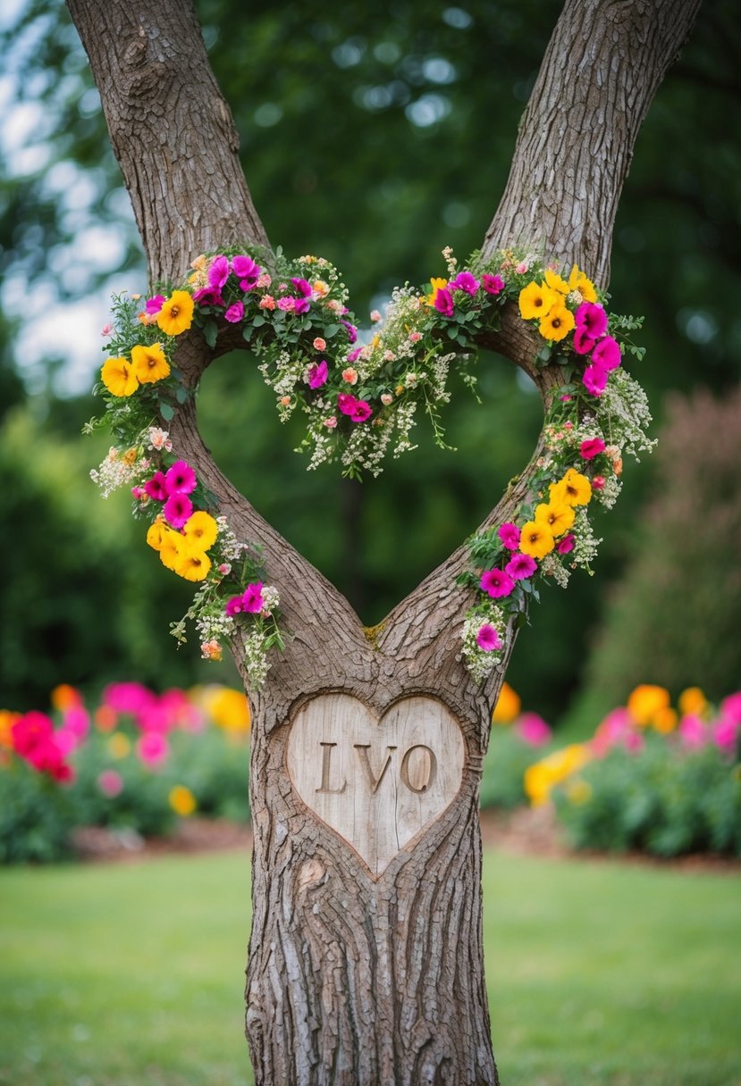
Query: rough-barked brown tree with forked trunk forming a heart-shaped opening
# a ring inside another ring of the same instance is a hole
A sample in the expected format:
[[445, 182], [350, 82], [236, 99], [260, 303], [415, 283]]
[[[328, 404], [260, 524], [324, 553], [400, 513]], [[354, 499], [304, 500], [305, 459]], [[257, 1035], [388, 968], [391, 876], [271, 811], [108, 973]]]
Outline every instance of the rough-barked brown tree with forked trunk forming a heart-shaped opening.
[[[116, 0], [104, 10], [93, 0], [68, 0], [68, 7], [152, 281], [177, 281], [196, 253], [244, 241], [267, 245], [192, 11], [173, 0], [136, 8]], [[485, 254], [538, 243], [606, 285], [633, 143], [698, 8], [699, 0], [567, 0], [523, 117]], [[535, 368], [532, 338], [514, 313], [505, 312], [502, 331], [487, 345], [520, 366], [549, 401], [557, 375]], [[212, 351], [191, 334], [178, 351], [185, 381], [196, 384], [226, 346], [225, 337]], [[218, 470], [199, 437], [192, 402], [173, 419], [171, 433], [238, 536], [263, 546], [296, 633], [265, 691], [253, 693], [247, 1032], [258, 1082], [498, 1082], [481, 964], [477, 798], [503, 671], [477, 685], [460, 659], [459, 631], [470, 602], [469, 590], [456, 585], [465, 550], [379, 627], [364, 629], [344, 597]], [[537, 453], [487, 526], [506, 520], [528, 493]], [[513, 641], [514, 631], [510, 646]], [[338, 772], [341, 752], [332, 761], [332, 743], [313, 731], [317, 720], [346, 743], [355, 741], [360, 780], [370, 791], [387, 770], [402, 782], [406, 773], [411, 793], [420, 792], [436, 768], [449, 776], [448, 805], [415, 826], [410, 847], [402, 843], [372, 858], [367, 833], [356, 839], [344, 832], [365, 851], [364, 862], [306, 810], [313, 797], [301, 771], [310, 740], [319, 759], [315, 791], [339, 796], [347, 785]], [[372, 745], [379, 724], [380, 756]], [[418, 759], [414, 768], [410, 750], [432, 733], [439, 765], [428, 753], [423, 768]], [[411, 740], [402, 746], [405, 735]]]

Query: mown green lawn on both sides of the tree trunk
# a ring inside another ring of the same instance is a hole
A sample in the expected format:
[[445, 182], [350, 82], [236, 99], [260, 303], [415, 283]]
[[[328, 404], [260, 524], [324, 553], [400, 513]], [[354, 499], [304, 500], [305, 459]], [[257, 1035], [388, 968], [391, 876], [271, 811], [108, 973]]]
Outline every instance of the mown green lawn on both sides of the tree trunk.
[[[738, 875], [489, 853], [485, 902], [503, 1086], [741, 1086]], [[244, 854], [0, 872], [0, 1084], [251, 1083], [248, 912]]]

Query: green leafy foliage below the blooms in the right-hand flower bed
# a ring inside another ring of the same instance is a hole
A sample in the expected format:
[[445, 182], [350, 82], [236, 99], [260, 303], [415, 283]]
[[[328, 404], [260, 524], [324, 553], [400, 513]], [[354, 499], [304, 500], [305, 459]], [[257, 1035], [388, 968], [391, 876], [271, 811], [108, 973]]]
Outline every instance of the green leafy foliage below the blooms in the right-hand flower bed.
[[708, 745], [671, 749], [649, 736], [640, 753], [614, 748], [553, 793], [576, 848], [741, 856], [741, 774]]

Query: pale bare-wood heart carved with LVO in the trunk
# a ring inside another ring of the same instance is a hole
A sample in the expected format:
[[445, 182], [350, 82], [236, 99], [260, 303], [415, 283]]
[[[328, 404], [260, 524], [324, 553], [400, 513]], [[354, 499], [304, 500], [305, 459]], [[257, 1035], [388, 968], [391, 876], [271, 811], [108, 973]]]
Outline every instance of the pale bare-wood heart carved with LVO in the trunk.
[[441, 702], [409, 697], [380, 720], [347, 694], [299, 711], [288, 736], [293, 787], [378, 877], [449, 807], [465, 743]]

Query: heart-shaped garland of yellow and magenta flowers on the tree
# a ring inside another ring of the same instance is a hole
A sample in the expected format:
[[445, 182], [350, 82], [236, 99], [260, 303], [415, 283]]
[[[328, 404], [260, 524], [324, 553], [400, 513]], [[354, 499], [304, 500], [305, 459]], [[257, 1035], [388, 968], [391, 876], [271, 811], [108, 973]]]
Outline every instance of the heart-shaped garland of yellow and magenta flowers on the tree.
[[435, 441], [448, 447], [439, 408], [450, 400], [450, 364], [455, 358], [475, 389], [467, 364], [476, 340], [497, 331], [502, 306], [516, 302], [543, 340], [536, 365], [562, 367], [564, 384], [545, 418], [531, 500], [511, 522], [468, 543], [472, 568], [460, 580], [478, 596], [465, 617], [463, 655], [477, 680], [502, 660], [507, 624], [538, 598], [539, 577], [565, 585], [572, 569], [589, 570], [599, 543], [590, 502], [612, 507], [624, 453], [638, 457], [653, 445], [645, 395], [621, 368], [626, 352], [642, 357], [626, 334], [642, 318], [608, 315], [606, 295], [576, 266], [564, 278], [554, 265], [512, 250], [488, 261], [474, 253], [462, 269], [450, 249], [443, 256], [448, 278], [431, 279], [427, 292], [397, 288], [385, 318], [370, 314], [377, 328], [365, 342], [340, 274], [323, 257], [226, 250], [197, 257], [186, 285], [143, 306], [141, 295], [114, 296], [113, 321], [103, 329], [111, 357], [96, 387], [105, 415], [86, 429], [110, 425], [117, 443], [91, 476], [104, 497], [128, 485], [135, 514], [149, 520], [149, 545], [163, 565], [199, 583], [187, 615], [172, 624], [178, 641], [191, 619], [202, 655], [218, 659], [239, 627], [255, 686], [269, 668], [268, 651], [284, 645], [278, 593], [265, 583], [259, 550], [214, 515], [215, 495], [178, 458], [164, 429], [193, 394], [174, 364], [177, 337], [191, 326], [212, 348], [221, 329], [239, 329], [280, 420], [296, 409], [305, 414], [309, 468], [339, 463], [343, 475], [361, 478], [379, 475], [389, 451], [397, 457], [415, 447], [410, 434], [420, 404]]

